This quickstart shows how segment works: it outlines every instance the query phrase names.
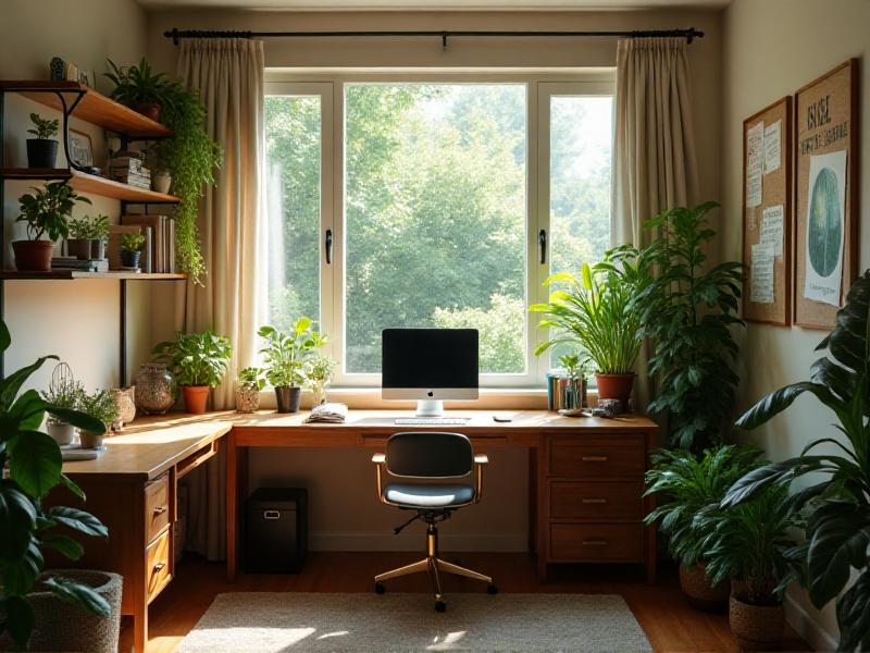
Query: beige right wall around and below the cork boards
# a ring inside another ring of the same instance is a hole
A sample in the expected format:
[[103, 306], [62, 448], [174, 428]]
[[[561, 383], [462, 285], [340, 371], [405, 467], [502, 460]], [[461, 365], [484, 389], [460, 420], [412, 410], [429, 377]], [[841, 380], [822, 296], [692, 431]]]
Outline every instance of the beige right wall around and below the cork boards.
[[[782, 96], [811, 82], [850, 57], [863, 58], [860, 99], [863, 134], [860, 156], [867, 178], [870, 161], [870, 2], [866, 0], [734, 0], [724, 12], [723, 47], [723, 171], [722, 199], [725, 222], [724, 255], [741, 257], [742, 125], [743, 120]], [[703, 152], [703, 150], [700, 150]], [[870, 263], [870, 186], [862, 185], [860, 204], [860, 268]], [[796, 217], [799, 219], [799, 217]], [[741, 405], [748, 406], [765, 393], [806, 379], [817, 358], [813, 348], [820, 331], [749, 324], [743, 343]], [[833, 416], [811, 398], [799, 399], [785, 415], [751, 434], [775, 460], [800, 453], [822, 435], [837, 436]], [[834, 637], [832, 609], [819, 615], [800, 592], [792, 592], [793, 617], [806, 611]], [[813, 643], [830, 648], [831, 640], [811, 631]]]

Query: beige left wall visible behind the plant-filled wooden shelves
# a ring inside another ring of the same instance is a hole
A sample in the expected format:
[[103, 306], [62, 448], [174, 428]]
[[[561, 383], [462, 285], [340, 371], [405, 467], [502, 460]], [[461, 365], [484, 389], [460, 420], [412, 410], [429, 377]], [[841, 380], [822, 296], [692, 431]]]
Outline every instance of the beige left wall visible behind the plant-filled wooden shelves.
[[[101, 73], [105, 58], [138, 60], [145, 53], [146, 19], [134, 0], [3, 0], [0, 7], [0, 78], [47, 79], [52, 57], [75, 62], [79, 67]], [[98, 87], [105, 89], [104, 79]], [[18, 96], [7, 96], [4, 122], [5, 165], [26, 167], [25, 139], [28, 114], [55, 114], [50, 109]], [[73, 127], [90, 134], [95, 153], [104, 148], [101, 130], [73, 121]], [[62, 151], [63, 148], [61, 148]], [[62, 159], [63, 155], [59, 156]], [[62, 161], [59, 160], [59, 164]], [[29, 186], [7, 182], [3, 229], [7, 243], [23, 237], [17, 197]], [[116, 220], [120, 202], [91, 197], [92, 207], [77, 207], [75, 215], [102, 212]], [[7, 261], [12, 260], [11, 247]], [[141, 306], [141, 289], [129, 284], [132, 316]], [[32, 362], [37, 356], [54, 353], [69, 361], [75, 374], [88, 386], [117, 384], [119, 284], [111, 281], [5, 282], [5, 320], [12, 331], [12, 348], [7, 354], [7, 370]], [[133, 348], [141, 348], [137, 323], [130, 328]], [[51, 374], [47, 365], [33, 381], [45, 387]]]

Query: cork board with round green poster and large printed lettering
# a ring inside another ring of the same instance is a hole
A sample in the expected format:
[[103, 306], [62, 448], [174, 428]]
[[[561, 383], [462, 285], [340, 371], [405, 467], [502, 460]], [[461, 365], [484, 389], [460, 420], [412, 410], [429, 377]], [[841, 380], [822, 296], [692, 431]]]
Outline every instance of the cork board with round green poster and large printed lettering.
[[858, 273], [858, 60], [795, 95], [795, 324], [829, 330]]

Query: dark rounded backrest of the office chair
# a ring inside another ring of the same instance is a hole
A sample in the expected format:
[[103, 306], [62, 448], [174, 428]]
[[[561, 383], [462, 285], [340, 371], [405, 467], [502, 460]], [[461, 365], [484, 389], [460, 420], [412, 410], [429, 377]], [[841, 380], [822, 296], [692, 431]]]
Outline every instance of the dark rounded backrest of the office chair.
[[461, 433], [402, 432], [387, 441], [386, 463], [393, 476], [446, 479], [471, 473], [474, 452]]

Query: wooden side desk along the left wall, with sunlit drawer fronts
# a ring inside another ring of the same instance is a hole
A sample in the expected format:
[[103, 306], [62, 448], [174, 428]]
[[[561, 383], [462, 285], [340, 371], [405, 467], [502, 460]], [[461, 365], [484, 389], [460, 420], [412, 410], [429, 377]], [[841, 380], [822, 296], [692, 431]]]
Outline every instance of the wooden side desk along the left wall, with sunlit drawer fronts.
[[[96, 460], [67, 461], [63, 471], [87, 494], [83, 504], [65, 489], [49, 503], [78, 506], [109, 527], [108, 539], [89, 539], [76, 565], [124, 577], [121, 612], [133, 616], [134, 645], [145, 651], [148, 604], [175, 574], [176, 482], [217, 452], [231, 420], [171, 417], [138, 419], [105, 439]], [[50, 559], [52, 566], [69, 560]]]

